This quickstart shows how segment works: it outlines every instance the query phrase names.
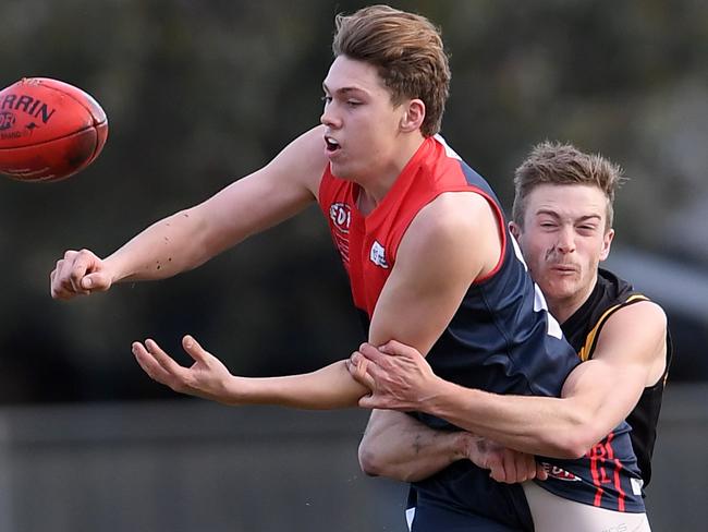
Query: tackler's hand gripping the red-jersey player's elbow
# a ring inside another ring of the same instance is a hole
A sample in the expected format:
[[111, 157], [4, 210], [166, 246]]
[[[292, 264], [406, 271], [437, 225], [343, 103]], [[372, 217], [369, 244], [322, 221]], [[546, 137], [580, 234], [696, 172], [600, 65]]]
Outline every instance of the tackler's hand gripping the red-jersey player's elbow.
[[355, 380], [371, 390], [359, 399], [362, 408], [420, 410], [435, 396], [439, 380], [416, 349], [394, 340], [378, 349], [363, 343], [347, 367]]

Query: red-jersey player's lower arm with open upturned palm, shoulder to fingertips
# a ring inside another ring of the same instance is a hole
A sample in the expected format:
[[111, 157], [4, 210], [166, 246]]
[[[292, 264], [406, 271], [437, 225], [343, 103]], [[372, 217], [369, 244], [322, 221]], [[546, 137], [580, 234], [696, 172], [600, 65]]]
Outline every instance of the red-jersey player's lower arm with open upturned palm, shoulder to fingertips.
[[[453, 194], [440, 196], [420, 211], [401, 242], [399, 257], [379, 297], [369, 328], [371, 341], [401, 338], [427, 352], [483, 268], [478, 257], [489, 255], [480, 253], [479, 245], [475, 251], [467, 245], [481, 240], [479, 217], [468, 213], [488, 209], [477, 194]], [[484, 233], [496, 234], [493, 220], [491, 223]], [[493, 265], [499, 250], [491, 255]], [[431, 259], [420, 265], [420, 256]], [[222, 364], [193, 344], [185, 343], [195, 359], [192, 367], [176, 364], [154, 341], [136, 342], [133, 349], [142, 367], [156, 380], [227, 404], [346, 408], [355, 407], [368, 391], [352, 378], [346, 360], [304, 375], [244, 378], [224, 373]]]

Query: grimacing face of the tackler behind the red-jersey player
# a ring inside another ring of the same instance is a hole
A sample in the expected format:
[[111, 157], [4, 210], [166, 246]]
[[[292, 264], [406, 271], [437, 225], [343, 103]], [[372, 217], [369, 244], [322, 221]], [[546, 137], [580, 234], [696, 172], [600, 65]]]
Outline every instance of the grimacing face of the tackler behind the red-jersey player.
[[524, 228], [516, 228], [532, 277], [551, 307], [582, 304], [614, 231], [606, 231], [607, 197], [591, 185], [542, 184], [527, 196]]

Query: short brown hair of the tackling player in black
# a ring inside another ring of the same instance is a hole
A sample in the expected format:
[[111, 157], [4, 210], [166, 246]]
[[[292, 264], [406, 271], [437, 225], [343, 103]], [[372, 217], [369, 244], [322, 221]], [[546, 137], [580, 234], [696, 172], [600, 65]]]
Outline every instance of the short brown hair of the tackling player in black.
[[612, 227], [614, 192], [625, 181], [622, 168], [599, 154], [585, 154], [572, 144], [542, 142], [514, 172], [512, 219], [523, 229], [526, 198], [539, 184], [586, 184], [607, 197], [606, 230]]

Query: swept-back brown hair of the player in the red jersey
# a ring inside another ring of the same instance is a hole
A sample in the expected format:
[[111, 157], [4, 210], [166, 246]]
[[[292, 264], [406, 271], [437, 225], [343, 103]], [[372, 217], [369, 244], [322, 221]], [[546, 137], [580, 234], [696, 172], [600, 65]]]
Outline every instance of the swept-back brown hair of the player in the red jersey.
[[388, 5], [370, 5], [335, 19], [334, 57], [366, 61], [378, 69], [391, 101], [419, 98], [426, 116], [420, 132], [440, 131], [450, 90], [450, 66], [440, 31], [426, 17]]

